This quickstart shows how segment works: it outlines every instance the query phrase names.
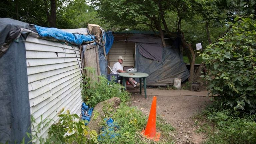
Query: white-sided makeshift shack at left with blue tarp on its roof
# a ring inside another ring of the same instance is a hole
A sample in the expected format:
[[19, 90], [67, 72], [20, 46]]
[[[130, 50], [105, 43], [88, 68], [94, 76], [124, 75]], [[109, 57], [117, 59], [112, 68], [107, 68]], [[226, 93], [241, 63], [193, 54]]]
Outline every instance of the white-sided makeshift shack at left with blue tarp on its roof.
[[[42, 120], [57, 122], [63, 107], [81, 114], [83, 68], [92, 66], [100, 75], [100, 48], [93, 35], [68, 31], [0, 18], [0, 143], [20, 143]], [[46, 137], [47, 130], [38, 136]]]

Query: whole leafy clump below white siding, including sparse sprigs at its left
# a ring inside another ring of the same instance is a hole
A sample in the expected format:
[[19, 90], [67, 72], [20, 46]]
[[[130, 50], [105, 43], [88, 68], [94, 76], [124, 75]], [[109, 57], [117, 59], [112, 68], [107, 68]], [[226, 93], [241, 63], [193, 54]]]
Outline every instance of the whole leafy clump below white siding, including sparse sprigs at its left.
[[[62, 108], [59, 113], [59, 121], [55, 124], [52, 119], [45, 119], [37, 124], [37, 127], [34, 127], [36, 123], [33, 116], [31, 116], [32, 124], [32, 134], [27, 133], [30, 142], [40, 143], [40, 144], [53, 144], [53, 143], [98, 143], [97, 138], [98, 134], [95, 130], [90, 130], [88, 126], [85, 126], [84, 120], [81, 120], [77, 114], [70, 114], [70, 111], [67, 110], [66, 113], [63, 113], [64, 108]], [[48, 130], [48, 137], [38, 136], [42, 132], [43, 128], [50, 128]], [[21, 144], [25, 144], [23, 141]]]

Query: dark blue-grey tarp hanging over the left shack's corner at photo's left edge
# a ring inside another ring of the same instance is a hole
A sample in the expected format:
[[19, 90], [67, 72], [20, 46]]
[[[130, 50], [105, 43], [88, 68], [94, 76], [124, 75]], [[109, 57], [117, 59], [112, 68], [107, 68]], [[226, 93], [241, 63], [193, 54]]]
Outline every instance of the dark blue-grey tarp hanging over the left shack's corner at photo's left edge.
[[24, 29], [34, 31], [30, 24], [0, 18], [0, 47], [9, 43], [0, 56], [0, 143], [20, 143], [23, 137], [27, 143], [26, 132], [31, 133]]

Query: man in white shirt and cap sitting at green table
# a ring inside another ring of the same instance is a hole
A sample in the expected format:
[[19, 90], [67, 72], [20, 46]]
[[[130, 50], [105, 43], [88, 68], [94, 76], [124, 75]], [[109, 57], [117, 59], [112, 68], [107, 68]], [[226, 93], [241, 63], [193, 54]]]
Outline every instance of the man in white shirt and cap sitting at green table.
[[[125, 72], [123, 70], [123, 66], [122, 63], [124, 61], [124, 58], [122, 56], [118, 57], [118, 61], [114, 64], [112, 70], [113, 70], [113, 74], [118, 74], [120, 72]], [[118, 80], [120, 80], [120, 77], [118, 77]], [[129, 78], [129, 83], [131, 85], [133, 85], [133, 87], [136, 87], [136, 85], [138, 84], [133, 78]]]

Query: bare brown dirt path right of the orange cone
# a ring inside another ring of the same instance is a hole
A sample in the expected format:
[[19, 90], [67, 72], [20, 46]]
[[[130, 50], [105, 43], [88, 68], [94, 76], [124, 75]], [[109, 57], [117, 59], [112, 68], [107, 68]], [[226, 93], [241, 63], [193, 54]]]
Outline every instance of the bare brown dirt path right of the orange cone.
[[210, 98], [206, 97], [207, 91], [147, 89], [147, 99], [136, 93], [139, 90], [130, 91], [133, 94], [132, 105], [147, 116], [153, 96], [157, 96], [157, 115], [176, 128], [173, 135], [176, 144], [200, 144], [205, 140], [203, 134], [195, 133], [197, 127], [193, 117], [210, 103]]

